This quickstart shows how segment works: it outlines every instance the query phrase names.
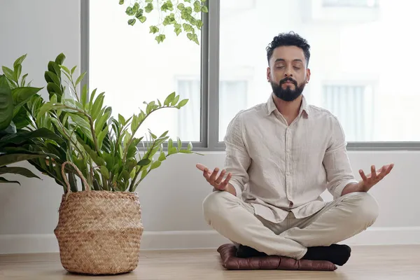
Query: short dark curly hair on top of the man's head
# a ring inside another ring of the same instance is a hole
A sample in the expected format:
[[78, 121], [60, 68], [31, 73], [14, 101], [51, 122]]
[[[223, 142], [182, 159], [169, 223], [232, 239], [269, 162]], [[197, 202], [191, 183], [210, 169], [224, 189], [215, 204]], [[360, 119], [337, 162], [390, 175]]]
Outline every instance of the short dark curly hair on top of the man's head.
[[308, 66], [309, 57], [311, 57], [309, 48], [311, 48], [311, 46], [304, 38], [299, 36], [299, 34], [295, 34], [293, 31], [290, 31], [289, 33], [281, 33], [273, 38], [273, 41], [267, 46], [268, 62], [273, 55], [274, 49], [283, 45], [295, 45], [296, 47], [301, 48], [303, 50], [304, 58], [306, 59]]

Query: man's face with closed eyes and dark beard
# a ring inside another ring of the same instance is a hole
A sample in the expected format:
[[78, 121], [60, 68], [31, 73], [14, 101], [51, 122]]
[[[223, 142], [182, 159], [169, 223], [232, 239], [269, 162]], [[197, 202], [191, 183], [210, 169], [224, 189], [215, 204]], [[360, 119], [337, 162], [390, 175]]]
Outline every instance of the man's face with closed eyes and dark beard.
[[306, 65], [301, 48], [281, 46], [274, 49], [267, 68], [267, 80], [276, 97], [291, 102], [302, 94], [311, 75]]

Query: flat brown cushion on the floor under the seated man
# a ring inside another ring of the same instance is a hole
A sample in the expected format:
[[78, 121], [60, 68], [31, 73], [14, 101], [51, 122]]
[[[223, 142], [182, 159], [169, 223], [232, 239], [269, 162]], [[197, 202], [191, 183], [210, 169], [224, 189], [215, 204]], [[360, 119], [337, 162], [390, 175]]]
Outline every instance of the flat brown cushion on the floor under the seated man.
[[337, 269], [332, 262], [325, 260], [295, 260], [277, 255], [237, 258], [235, 244], [223, 244], [217, 251], [221, 254], [223, 267], [229, 270], [283, 269], [334, 271]]

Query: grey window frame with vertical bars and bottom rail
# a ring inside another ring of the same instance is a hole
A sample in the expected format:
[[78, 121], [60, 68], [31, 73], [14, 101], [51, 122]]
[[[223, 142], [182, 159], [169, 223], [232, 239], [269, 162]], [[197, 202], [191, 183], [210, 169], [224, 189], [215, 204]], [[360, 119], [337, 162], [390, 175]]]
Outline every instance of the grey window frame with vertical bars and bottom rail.
[[[209, 13], [202, 13], [204, 26], [201, 52], [201, 141], [191, 142], [194, 151], [225, 151], [223, 141], [218, 141], [218, 94], [220, 54], [220, 1], [207, 0]], [[80, 69], [87, 72], [81, 86], [89, 84], [90, 0], [80, 0]], [[211, 43], [210, 43], [211, 42]], [[185, 140], [185, 139], [184, 139]], [[186, 147], [188, 141], [183, 142]], [[166, 146], [165, 146], [166, 148]], [[347, 142], [348, 151], [420, 151], [420, 141]]]

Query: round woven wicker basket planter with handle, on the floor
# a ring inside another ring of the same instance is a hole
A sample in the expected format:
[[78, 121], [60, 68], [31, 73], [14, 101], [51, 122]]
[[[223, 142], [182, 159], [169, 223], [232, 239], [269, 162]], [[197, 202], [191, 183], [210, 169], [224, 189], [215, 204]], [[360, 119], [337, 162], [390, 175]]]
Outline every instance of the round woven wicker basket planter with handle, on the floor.
[[77, 193], [67, 191], [62, 196], [54, 233], [62, 266], [67, 271], [120, 274], [136, 269], [143, 230], [137, 193], [86, 188]]

